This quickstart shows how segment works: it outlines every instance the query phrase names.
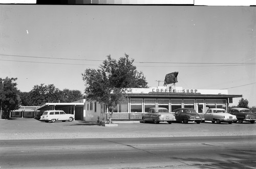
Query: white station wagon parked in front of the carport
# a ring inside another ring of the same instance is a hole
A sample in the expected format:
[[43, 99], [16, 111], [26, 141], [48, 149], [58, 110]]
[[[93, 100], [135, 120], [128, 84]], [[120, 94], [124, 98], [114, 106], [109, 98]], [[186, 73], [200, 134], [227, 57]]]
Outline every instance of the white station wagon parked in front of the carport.
[[56, 122], [56, 121], [69, 121], [72, 122], [75, 119], [75, 115], [72, 114], [66, 114], [64, 111], [62, 110], [48, 110], [48, 111], [44, 111], [44, 113], [42, 114], [42, 116], [40, 117], [40, 121], [44, 121], [44, 122]]

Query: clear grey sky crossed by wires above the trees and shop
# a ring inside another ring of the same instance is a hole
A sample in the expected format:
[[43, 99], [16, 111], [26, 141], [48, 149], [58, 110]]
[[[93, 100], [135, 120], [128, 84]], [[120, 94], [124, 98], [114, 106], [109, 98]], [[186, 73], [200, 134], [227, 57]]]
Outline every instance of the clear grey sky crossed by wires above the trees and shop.
[[226, 89], [256, 106], [255, 7], [0, 5], [0, 11], [0, 77], [17, 77], [22, 92], [41, 83], [83, 92], [84, 70], [126, 53], [149, 87], [178, 71], [177, 87]]

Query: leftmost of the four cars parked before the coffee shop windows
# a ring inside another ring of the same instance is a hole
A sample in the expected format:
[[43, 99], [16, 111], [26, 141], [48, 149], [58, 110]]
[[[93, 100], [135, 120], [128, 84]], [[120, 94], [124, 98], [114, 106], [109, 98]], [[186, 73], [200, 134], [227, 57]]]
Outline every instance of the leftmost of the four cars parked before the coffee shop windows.
[[174, 114], [171, 114], [167, 108], [163, 107], [153, 107], [150, 108], [145, 114], [142, 114], [143, 123], [154, 122], [158, 124], [159, 122], [168, 122], [171, 124], [176, 121]]

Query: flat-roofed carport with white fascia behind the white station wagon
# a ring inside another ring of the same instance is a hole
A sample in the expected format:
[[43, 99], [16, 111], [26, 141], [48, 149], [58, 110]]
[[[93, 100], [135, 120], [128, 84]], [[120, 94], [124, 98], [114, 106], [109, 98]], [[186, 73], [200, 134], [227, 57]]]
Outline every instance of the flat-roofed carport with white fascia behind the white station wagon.
[[[41, 105], [36, 110], [46, 111], [46, 110], [63, 110], [66, 114], [73, 114], [75, 115], [76, 120], [83, 120], [77, 113], [82, 114], [83, 116], [83, 106], [84, 103], [82, 102], [73, 102], [73, 103], [45, 103]], [[76, 112], [79, 111], [79, 112]]]

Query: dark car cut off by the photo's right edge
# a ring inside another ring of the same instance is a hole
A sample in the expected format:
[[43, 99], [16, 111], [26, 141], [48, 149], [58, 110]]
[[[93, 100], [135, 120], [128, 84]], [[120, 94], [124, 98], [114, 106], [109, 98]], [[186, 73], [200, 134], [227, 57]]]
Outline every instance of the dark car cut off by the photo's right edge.
[[[250, 122], [253, 124], [256, 120], [256, 114], [251, 112], [248, 108], [231, 108], [229, 110], [231, 115], [237, 116], [238, 123], [243, 123], [243, 121]], [[237, 121], [234, 121], [236, 123]]]

